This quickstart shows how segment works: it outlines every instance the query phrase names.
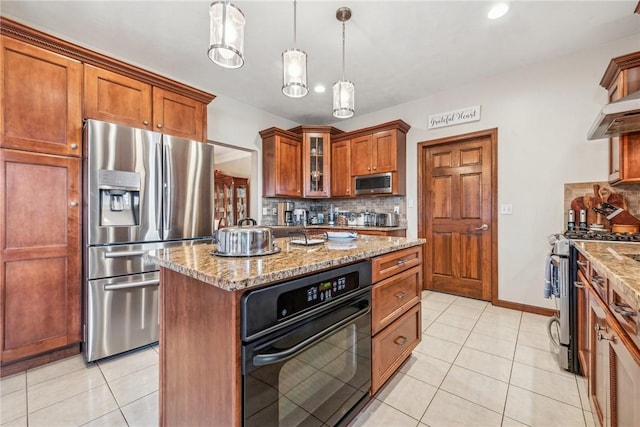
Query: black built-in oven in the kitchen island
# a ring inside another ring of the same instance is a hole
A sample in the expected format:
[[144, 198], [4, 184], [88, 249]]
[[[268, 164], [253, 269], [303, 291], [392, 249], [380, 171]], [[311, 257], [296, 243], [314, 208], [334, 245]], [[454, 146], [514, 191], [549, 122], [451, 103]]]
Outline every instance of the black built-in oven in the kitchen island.
[[368, 402], [368, 261], [248, 292], [241, 309], [245, 426], [345, 425]]

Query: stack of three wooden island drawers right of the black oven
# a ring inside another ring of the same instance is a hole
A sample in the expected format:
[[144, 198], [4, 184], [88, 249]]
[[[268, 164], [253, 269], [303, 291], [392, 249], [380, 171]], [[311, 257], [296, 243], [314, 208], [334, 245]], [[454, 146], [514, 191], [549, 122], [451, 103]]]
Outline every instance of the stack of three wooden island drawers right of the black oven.
[[[412, 260], [417, 261], [412, 261]], [[422, 339], [422, 247], [372, 259], [371, 394], [375, 394]]]

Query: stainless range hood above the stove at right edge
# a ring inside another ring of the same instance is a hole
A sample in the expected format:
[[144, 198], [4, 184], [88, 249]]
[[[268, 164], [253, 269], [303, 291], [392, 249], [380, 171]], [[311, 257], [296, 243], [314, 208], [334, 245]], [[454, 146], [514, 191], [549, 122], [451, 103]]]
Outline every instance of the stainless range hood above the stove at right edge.
[[587, 139], [611, 138], [633, 132], [640, 132], [640, 91], [602, 107]]

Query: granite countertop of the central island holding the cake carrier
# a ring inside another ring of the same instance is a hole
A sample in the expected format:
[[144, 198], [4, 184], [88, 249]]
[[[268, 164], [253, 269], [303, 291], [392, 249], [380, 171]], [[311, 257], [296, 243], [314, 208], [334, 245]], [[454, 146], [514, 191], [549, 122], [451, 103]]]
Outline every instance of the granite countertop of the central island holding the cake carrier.
[[151, 251], [147, 258], [221, 289], [236, 291], [318, 270], [337, 267], [389, 252], [422, 245], [425, 239], [359, 235], [350, 244], [325, 242], [297, 245], [288, 238], [275, 239], [278, 254], [256, 257], [213, 256], [216, 245], [180, 246]]

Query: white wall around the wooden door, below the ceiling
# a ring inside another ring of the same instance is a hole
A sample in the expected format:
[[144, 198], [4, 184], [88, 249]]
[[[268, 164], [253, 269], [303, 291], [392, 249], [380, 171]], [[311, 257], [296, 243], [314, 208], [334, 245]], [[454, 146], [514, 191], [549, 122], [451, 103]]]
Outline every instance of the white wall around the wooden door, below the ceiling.
[[[498, 205], [513, 205], [513, 215], [498, 218], [499, 298], [553, 307], [542, 297], [543, 264], [547, 236], [565, 228], [563, 184], [606, 181], [607, 142], [587, 141], [586, 134], [607, 99], [599, 82], [609, 61], [637, 50], [637, 37], [626, 38], [334, 126], [348, 131], [395, 119], [409, 123], [407, 204], [414, 206], [419, 142], [497, 127]], [[429, 114], [472, 105], [481, 105], [479, 122], [427, 130]], [[416, 236], [415, 207], [407, 219], [407, 234]]]

